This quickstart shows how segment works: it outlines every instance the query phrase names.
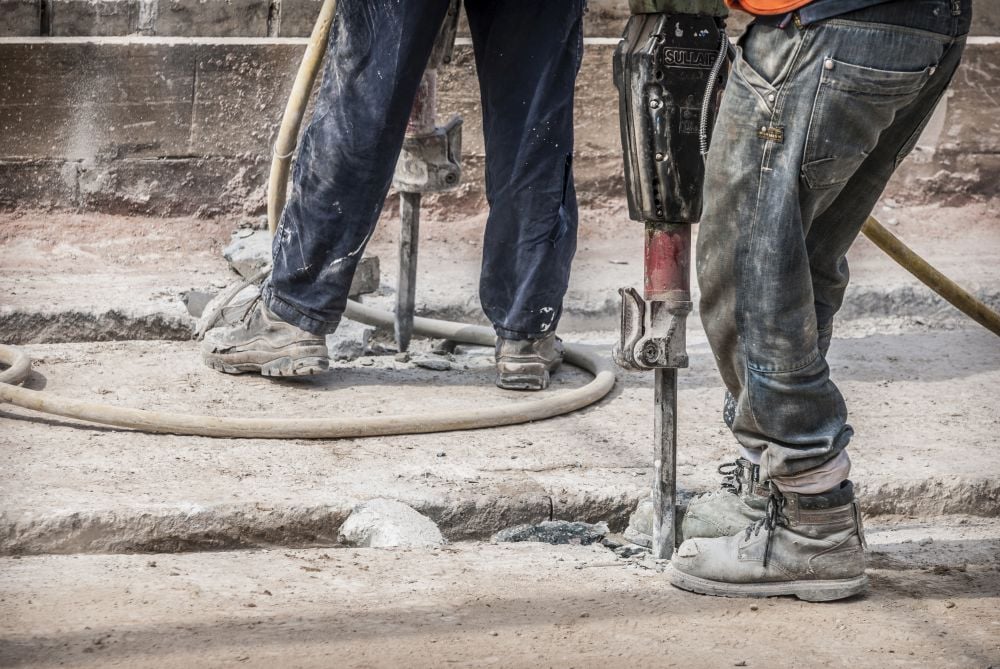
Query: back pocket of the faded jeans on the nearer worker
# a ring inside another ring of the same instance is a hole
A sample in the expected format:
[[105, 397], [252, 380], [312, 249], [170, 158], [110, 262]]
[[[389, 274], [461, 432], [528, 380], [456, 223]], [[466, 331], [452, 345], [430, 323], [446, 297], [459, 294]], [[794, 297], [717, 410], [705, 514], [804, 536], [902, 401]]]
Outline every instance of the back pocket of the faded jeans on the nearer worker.
[[846, 183], [934, 71], [879, 70], [825, 58], [802, 158], [810, 188]]

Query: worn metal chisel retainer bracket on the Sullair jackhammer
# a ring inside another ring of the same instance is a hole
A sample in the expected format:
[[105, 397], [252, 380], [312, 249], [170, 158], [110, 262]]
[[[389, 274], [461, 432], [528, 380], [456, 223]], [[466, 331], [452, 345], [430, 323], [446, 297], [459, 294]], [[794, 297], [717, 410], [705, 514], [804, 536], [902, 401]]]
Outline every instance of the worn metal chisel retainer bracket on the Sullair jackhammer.
[[688, 366], [686, 325], [691, 302], [646, 300], [634, 288], [619, 288], [622, 298], [615, 362], [632, 370]]

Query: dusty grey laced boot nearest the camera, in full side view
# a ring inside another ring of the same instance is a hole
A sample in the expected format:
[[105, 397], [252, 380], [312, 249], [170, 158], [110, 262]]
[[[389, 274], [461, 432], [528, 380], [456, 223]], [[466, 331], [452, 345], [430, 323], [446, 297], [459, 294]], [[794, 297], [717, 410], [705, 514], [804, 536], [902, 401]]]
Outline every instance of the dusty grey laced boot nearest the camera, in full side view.
[[722, 597], [842, 599], [868, 587], [861, 511], [850, 481], [820, 495], [772, 491], [764, 517], [728, 537], [688, 539], [670, 582]]

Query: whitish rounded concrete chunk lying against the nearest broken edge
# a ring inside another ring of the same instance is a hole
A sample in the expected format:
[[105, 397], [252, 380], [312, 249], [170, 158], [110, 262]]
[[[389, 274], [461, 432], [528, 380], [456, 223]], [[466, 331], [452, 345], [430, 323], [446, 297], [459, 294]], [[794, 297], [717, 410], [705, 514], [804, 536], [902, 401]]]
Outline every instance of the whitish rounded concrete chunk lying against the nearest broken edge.
[[393, 499], [371, 499], [351, 511], [338, 540], [355, 548], [429, 548], [445, 543], [427, 516]]

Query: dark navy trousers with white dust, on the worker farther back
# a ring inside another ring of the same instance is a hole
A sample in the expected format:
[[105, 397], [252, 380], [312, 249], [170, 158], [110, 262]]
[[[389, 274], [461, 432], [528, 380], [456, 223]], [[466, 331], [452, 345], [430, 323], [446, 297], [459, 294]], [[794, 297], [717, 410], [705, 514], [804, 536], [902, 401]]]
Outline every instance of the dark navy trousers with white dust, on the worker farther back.
[[[576, 251], [573, 89], [584, 0], [466, 0], [486, 144], [480, 301], [501, 336], [555, 330]], [[333, 332], [374, 231], [447, 0], [341, 0], [275, 235], [268, 307]]]

